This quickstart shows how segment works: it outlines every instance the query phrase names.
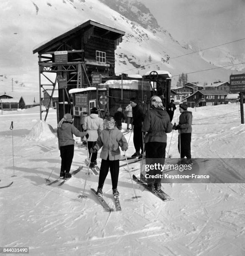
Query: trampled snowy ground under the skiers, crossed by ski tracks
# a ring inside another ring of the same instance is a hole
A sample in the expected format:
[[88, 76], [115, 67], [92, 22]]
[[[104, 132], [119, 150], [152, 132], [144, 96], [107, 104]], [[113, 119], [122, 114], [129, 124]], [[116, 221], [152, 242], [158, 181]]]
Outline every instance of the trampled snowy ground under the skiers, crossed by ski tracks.
[[[193, 113], [192, 156], [244, 157], [239, 105], [189, 110]], [[176, 110], [173, 123], [178, 117]], [[35, 256], [244, 255], [244, 184], [163, 184], [174, 198], [170, 202], [160, 201], [135, 184], [135, 192], [142, 196], [135, 200], [129, 173], [121, 168], [118, 190], [122, 211], [108, 213], [90, 192], [90, 187], [97, 187], [97, 176], [87, 178], [87, 199], [77, 198], [84, 188], [85, 166], [61, 187], [46, 186], [45, 178], [52, 171], [50, 179], [58, 177], [61, 159], [55, 133], [38, 119], [36, 107], [0, 115], [0, 185], [14, 182], [0, 189], [1, 246], [27, 246], [29, 255]], [[56, 128], [55, 110], [49, 113], [47, 123]], [[168, 134], [166, 150], [173, 157], [179, 155], [177, 136], [177, 131]], [[130, 156], [134, 153], [133, 136], [128, 133], [126, 138]], [[80, 138], [75, 139], [72, 170], [87, 157], [85, 148], [78, 147]], [[12, 154], [16, 177], [11, 177]], [[133, 173], [138, 176], [138, 172]], [[110, 207], [115, 207], [110, 174], [104, 193]]]

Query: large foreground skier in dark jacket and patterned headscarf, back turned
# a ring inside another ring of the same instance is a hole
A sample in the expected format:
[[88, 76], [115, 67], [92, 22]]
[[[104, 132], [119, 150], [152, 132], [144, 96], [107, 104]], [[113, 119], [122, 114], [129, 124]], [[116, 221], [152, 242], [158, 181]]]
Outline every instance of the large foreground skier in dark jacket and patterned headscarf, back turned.
[[[145, 161], [146, 164], [155, 164], [156, 161], [164, 164], [167, 134], [172, 131], [170, 118], [163, 109], [162, 100], [158, 96], [151, 97], [151, 109], [145, 116], [142, 131], [145, 135]], [[147, 178], [149, 189], [161, 189], [161, 178], [152, 178], [151, 175], [161, 174], [161, 170], [153, 169], [148, 171]]]

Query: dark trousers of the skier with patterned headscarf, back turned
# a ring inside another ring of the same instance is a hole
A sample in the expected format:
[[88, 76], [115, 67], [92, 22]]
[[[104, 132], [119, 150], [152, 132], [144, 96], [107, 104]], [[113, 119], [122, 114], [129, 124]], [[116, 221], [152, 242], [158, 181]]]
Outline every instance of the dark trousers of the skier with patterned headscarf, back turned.
[[[145, 143], [145, 164], [164, 164], [166, 154], [166, 142], [147, 142]], [[160, 169], [153, 169], [146, 172], [149, 175], [162, 174]], [[161, 178], [147, 178], [149, 183], [161, 183]]]

